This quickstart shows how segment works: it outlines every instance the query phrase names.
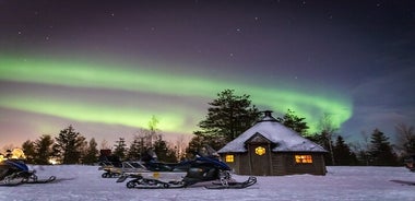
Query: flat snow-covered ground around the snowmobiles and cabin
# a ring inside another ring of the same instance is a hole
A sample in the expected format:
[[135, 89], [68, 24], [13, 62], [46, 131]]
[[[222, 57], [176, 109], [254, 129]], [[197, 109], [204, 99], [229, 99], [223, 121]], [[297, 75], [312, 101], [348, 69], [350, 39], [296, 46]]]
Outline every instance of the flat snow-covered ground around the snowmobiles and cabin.
[[[415, 186], [391, 182], [413, 180], [415, 173], [404, 167], [328, 167], [327, 176], [294, 175], [258, 177], [246, 189], [210, 190], [203, 187], [183, 189], [128, 189], [126, 182], [102, 178], [97, 166], [33, 166], [40, 178], [57, 176], [59, 181], [43, 185], [0, 187], [0, 200], [415, 200]], [[247, 176], [235, 175], [236, 180]]]

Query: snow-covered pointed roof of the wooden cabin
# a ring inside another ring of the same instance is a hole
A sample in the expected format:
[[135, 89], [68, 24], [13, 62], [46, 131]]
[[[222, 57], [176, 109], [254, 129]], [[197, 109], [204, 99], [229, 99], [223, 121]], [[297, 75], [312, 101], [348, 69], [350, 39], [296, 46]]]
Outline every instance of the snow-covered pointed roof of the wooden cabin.
[[264, 111], [265, 115], [260, 121], [227, 143], [218, 153], [247, 152], [246, 143], [254, 134], [260, 134], [273, 143], [273, 152], [327, 152], [322, 146], [280, 123], [271, 113]]

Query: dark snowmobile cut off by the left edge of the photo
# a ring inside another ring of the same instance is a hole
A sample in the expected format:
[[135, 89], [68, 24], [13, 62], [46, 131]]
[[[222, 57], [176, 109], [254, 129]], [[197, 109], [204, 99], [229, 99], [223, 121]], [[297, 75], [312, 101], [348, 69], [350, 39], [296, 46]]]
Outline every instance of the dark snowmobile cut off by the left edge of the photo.
[[0, 185], [16, 186], [22, 184], [45, 184], [56, 179], [38, 179], [35, 170], [29, 170], [27, 165], [20, 159], [5, 159], [0, 163]]

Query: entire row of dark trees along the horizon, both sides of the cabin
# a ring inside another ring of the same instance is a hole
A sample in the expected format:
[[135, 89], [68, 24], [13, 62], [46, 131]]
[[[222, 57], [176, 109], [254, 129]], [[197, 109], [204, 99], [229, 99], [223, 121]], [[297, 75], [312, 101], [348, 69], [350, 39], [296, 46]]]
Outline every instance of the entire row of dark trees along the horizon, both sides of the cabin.
[[[193, 138], [188, 144], [169, 145], [157, 130], [157, 119], [153, 117], [149, 129], [141, 129], [128, 145], [124, 138], [119, 138], [115, 144], [114, 155], [121, 159], [140, 159], [149, 150], [153, 151], [159, 161], [177, 162], [191, 157], [192, 153], [204, 145], [220, 150], [253, 126], [261, 118], [261, 111], [250, 100], [249, 95], [235, 95], [234, 90], [225, 90], [217, 98], [209, 103], [205, 119], [198, 123], [200, 128], [193, 131]], [[282, 117], [276, 118], [284, 126], [295, 130], [303, 137], [316, 142], [328, 151], [328, 165], [402, 165], [402, 158], [415, 154], [415, 133], [413, 127], [396, 126], [400, 137], [398, 144], [391, 144], [390, 139], [379, 129], [370, 135], [365, 135], [363, 143], [346, 143], [331, 121], [330, 115], [324, 114], [319, 122], [319, 132], [308, 133], [305, 118], [288, 109]], [[185, 147], [186, 146], [186, 147]], [[28, 163], [49, 164], [56, 159], [62, 164], [93, 164], [98, 161], [97, 143], [92, 138], [86, 139], [75, 132], [72, 126], [60, 131], [52, 138], [44, 134], [35, 141], [27, 140], [22, 144]], [[186, 149], [186, 150], [185, 150]]]

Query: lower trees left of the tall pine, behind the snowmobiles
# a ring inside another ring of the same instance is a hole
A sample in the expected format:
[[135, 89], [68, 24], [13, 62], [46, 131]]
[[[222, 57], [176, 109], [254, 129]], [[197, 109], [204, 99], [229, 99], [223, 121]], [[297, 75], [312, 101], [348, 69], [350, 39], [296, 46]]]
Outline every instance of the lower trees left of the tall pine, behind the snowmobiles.
[[[35, 141], [27, 140], [22, 144], [26, 162], [31, 164], [96, 164], [99, 162], [100, 152], [94, 138], [88, 142], [72, 126], [61, 130], [52, 138], [44, 134]], [[133, 137], [128, 147], [124, 138], [119, 138], [111, 150], [111, 157], [120, 161], [140, 159], [149, 151], [156, 154], [163, 162], [175, 163], [183, 156], [177, 146], [169, 146], [163, 139], [163, 134], [155, 130], [142, 129]]]

